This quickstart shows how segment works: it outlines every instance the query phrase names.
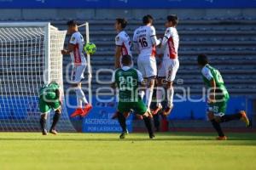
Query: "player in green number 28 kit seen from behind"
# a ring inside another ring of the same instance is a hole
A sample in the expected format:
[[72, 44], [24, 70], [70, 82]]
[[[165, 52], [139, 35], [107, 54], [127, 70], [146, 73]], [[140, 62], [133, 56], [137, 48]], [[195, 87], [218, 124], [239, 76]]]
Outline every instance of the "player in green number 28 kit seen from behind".
[[[152, 129], [152, 116], [146, 105], [143, 103], [138, 91], [140, 84], [143, 83], [142, 74], [136, 69], [131, 68], [132, 60], [130, 55], [124, 55], [121, 59], [122, 68], [113, 73], [113, 88], [119, 88], [118, 120], [122, 127], [120, 139], [125, 139], [128, 131], [126, 129], [125, 117], [131, 110], [143, 116], [143, 121], [148, 129], [149, 138], [154, 138]], [[125, 116], [124, 116], [125, 114]]]

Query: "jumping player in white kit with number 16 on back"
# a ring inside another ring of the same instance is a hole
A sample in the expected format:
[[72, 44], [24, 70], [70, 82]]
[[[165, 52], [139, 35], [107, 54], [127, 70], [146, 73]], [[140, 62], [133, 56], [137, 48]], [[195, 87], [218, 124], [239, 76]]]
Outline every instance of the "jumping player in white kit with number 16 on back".
[[144, 80], [148, 83], [146, 89], [146, 105], [148, 111], [152, 101], [155, 77], [157, 75], [156, 69], [156, 46], [160, 44], [160, 40], [156, 38], [155, 29], [153, 25], [153, 17], [145, 15], [143, 17], [143, 25], [134, 31], [133, 42], [135, 48], [138, 49], [139, 55], [137, 59], [137, 66], [142, 72]]

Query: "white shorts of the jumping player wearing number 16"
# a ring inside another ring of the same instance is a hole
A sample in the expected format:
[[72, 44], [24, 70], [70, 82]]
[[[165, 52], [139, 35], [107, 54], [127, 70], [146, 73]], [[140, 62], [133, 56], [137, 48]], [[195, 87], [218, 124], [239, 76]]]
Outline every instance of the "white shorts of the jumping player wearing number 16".
[[137, 58], [138, 70], [142, 72], [144, 78], [156, 77], [156, 60], [154, 57], [141, 57]]

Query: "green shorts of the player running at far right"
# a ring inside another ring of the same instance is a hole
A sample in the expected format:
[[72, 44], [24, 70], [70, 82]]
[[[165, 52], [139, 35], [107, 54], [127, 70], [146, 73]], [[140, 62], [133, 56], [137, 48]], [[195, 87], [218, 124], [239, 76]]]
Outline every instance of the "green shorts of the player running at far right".
[[223, 98], [217, 99], [217, 102], [208, 104], [207, 110], [212, 111], [214, 116], [224, 116], [229, 99], [230, 99], [229, 94], [224, 94]]

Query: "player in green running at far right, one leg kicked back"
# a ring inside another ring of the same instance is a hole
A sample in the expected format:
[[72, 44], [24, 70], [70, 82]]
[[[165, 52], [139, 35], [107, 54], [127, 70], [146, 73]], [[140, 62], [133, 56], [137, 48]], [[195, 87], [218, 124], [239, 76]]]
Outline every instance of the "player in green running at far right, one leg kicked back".
[[224, 81], [220, 72], [209, 65], [206, 54], [199, 54], [197, 57], [197, 63], [201, 68], [203, 81], [207, 85], [207, 88], [209, 88], [207, 116], [218, 133], [217, 139], [226, 140], [227, 137], [224, 135], [219, 123], [240, 119], [245, 122], [248, 127], [249, 120], [247, 118], [247, 114], [245, 111], [239, 111], [236, 114], [225, 115], [230, 95], [224, 86]]

